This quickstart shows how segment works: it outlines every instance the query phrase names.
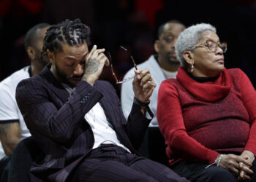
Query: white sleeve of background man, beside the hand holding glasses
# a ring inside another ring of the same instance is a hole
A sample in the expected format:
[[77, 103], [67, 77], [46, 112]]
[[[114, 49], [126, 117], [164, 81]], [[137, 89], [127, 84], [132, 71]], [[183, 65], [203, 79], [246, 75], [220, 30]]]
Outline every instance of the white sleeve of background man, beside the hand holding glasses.
[[[128, 77], [134, 76], [134, 70], [129, 70], [127, 74], [125, 74], [124, 79], [127, 79]], [[124, 82], [121, 85], [121, 107], [124, 113], [125, 118], [127, 119], [129, 116], [129, 113], [132, 109], [132, 103], [134, 98], [134, 92], [132, 89], [132, 81], [133, 79]]]

